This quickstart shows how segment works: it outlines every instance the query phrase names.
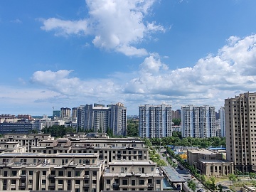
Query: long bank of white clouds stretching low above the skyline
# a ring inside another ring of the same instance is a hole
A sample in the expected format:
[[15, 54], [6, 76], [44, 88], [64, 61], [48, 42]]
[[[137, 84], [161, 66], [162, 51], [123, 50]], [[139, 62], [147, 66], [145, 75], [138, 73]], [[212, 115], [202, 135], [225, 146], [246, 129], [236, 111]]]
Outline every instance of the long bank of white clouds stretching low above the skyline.
[[70, 77], [72, 70], [48, 70], [35, 72], [31, 82], [67, 97], [117, 100], [134, 109], [162, 102], [176, 108], [188, 104], [219, 107], [225, 98], [256, 91], [256, 35], [230, 38], [216, 55], [199, 59], [192, 68], [171, 70], [158, 54], [151, 54], [138, 71], [115, 73], [109, 79], [80, 80]]

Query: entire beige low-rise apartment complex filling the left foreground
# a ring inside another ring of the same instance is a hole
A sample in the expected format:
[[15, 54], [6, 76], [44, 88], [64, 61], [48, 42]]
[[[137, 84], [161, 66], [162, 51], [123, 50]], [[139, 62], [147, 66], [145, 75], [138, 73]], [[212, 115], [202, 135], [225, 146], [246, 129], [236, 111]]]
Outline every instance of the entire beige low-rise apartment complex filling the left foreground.
[[149, 160], [148, 147], [136, 138], [108, 138], [104, 133], [70, 134], [59, 139], [47, 134], [6, 134], [0, 146], [18, 149], [19, 142], [27, 147], [27, 153], [0, 153], [0, 190], [163, 188], [164, 176]]

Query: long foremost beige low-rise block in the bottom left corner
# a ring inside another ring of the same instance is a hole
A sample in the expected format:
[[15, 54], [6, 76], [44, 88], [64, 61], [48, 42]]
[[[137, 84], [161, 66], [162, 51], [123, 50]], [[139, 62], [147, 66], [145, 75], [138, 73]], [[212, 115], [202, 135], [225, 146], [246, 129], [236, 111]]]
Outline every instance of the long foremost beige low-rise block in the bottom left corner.
[[105, 169], [98, 154], [0, 154], [0, 188], [3, 191], [100, 192]]

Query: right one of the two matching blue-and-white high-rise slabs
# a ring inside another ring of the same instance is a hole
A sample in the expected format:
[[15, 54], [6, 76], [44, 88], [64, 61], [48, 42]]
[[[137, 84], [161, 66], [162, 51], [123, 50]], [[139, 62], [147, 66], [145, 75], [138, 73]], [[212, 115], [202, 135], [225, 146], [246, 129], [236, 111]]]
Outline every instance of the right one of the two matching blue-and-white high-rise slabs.
[[215, 107], [204, 105], [181, 107], [182, 137], [207, 138], [216, 136]]

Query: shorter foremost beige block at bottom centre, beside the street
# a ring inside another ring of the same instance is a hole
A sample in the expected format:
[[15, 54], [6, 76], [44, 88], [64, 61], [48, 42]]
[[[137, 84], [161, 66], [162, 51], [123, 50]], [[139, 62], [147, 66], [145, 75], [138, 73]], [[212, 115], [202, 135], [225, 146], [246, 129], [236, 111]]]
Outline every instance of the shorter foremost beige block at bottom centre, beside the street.
[[103, 190], [162, 191], [163, 179], [153, 161], [113, 161], [103, 174]]

